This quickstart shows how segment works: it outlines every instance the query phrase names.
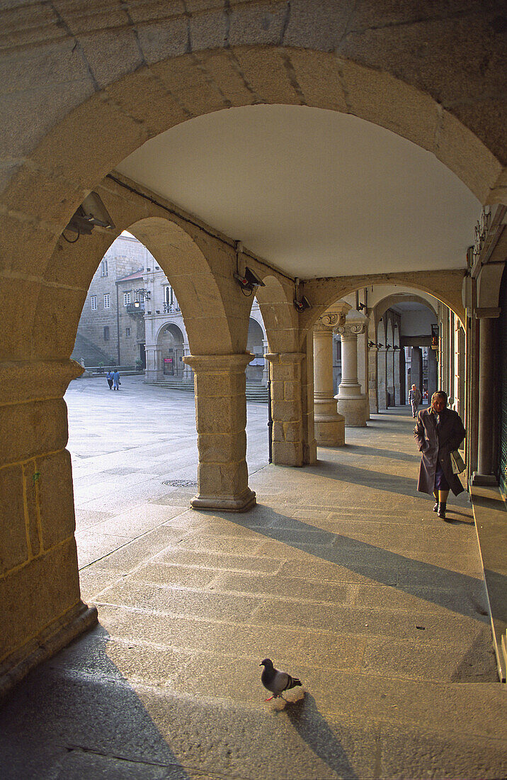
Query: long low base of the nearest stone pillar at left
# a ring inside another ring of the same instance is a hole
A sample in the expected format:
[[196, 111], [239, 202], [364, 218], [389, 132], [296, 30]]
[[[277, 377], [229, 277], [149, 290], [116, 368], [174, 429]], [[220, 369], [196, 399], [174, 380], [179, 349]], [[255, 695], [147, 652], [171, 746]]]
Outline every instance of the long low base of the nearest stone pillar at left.
[[88, 607], [80, 601], [70, 612], [6, 658], [0, 666], [0, 700], [34, 667], [47, 661], [97, 622], [97, 608]]

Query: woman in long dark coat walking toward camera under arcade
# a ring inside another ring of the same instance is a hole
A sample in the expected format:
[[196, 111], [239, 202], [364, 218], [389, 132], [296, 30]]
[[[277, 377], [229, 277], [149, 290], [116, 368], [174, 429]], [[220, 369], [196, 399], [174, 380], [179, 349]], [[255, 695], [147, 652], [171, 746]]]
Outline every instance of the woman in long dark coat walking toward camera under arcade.
[[422, 453], [417, 490], [433, 493], [433, 511], [445, 520], [449, 490], [454, 495], [463, 491], [458, 475], [452, 473], [451, 452], [465, 438], [465, 429], [459, 414], [447, 408], [447, 394], [443, 390], [433, 393], [431, 406], [419, 412], [414, 438]]

